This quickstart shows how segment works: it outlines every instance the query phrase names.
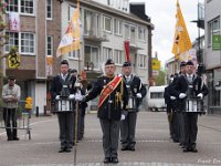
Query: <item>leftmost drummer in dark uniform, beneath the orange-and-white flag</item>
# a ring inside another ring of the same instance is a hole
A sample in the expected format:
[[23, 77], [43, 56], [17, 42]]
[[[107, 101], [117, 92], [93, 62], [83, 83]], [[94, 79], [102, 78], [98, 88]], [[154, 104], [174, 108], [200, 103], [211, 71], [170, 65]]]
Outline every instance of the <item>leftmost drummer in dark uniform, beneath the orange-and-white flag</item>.
[[[74, 83], [76, 77], [70, 75], [69, 62], [66, 60], [61, 62], [60, 69], [61, 73], [53, 77], [50, 90], [53, 102], [62, 97], [74, 98]], [[71, 152], [73, 144], [73, 111], [57, 112], [57, 117], [61, 141], [61, 149], [59, 153]]]

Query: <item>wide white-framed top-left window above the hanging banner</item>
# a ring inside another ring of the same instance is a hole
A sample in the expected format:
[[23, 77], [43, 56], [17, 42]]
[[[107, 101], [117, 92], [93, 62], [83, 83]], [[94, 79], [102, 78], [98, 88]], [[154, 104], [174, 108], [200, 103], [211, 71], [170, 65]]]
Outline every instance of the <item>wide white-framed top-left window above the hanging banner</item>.
[[34, 0], [6, 0], [8, 12], [19, 12], [22, 14], [34, 13]]

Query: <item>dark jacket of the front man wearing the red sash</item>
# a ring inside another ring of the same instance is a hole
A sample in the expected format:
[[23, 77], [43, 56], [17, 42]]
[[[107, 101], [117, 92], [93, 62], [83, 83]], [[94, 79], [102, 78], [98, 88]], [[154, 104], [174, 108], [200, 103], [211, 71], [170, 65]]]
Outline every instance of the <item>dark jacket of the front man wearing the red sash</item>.
[[[88, 102], [95, 98], [101, 94], [102, 90], [108, 84], [114, 77], [109, 79], [107, 76], [98, 77], [97, 82], [95, 82], [94, 87], [90, 91], [90, 93], [85, 96], [85, 101]], [[116, 102], [116, 94], [120, 92], [120, 87], [123, 87], [123, 96], [122, 103]], [[109, 102], [112, 101], [112, 102]], [[128, 102], [128, 93], [126, 90], [126, 85], [120, 82], [117, 87], [110, 93], [110, 95], [104, 101], [101, 107], [98, 107], [97, 116], [102, 120], [114, 120], [119, 121], [123, 114], [123, 111], [126, 110], [126, 105]], [[123, 105], [123, 106], [122, 106]]]

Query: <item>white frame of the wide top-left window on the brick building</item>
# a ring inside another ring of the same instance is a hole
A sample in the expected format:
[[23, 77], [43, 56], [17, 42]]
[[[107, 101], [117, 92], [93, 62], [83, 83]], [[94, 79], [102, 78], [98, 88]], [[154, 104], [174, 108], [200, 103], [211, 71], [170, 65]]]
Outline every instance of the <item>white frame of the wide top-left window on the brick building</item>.
[[[18, 12], [18, 13], [20, 13], [20, 14], [22, 14], [22, 15], [34, 15], [35, 14], [35, 0], [13, 0], [13, 1], [17, 1], [18, 2], [18, 11], [15, 10], [8, 10], [7, 9], [7, 12], [9, 13], [9, 12]], [[29, 6], [21, 6], [21, 1], [24, 1], [24, 3], [25, 2], [32, 2], [33, 3], [33, 7], [29, 7]], [[10, 3], [8, 4], [8, 6], [10, 6]], [[12, 6], [13, 7], [13, 6]], [[21, 11], [21, 8], [22, 7], [24, 7], [24, 8], [27, 8], [27, 9], [29, 9], [29, 8], [32, 8], [32, 13], [29, 13], [29, 12], [22, 12]]]

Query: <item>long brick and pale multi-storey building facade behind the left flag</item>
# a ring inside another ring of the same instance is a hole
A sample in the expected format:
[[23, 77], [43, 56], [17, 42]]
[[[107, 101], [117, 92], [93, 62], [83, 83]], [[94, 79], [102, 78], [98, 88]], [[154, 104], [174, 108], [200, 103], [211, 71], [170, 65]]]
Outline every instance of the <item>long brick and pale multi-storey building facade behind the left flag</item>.
[[43, 113], [45, 105], [49, 105], [46, 94], [51, 79], [59, 73], [62, 59], [70, 62], [71, 69], [86, 71], [92, 83], [103, 74], [103, 64], [109, 58], [115, 61], [117, 73], [120, 73], [125, 61], [125, 42], [129, 42], [134, 73], [148, 85], [154, 24], [150, 20], [131, 14], [126, 0], [124, 4], [118, 2], [96, 0], [92, 3], [92, 0], [81, 0], [81, 49], [61, 58], [56, 58], [56, 49], [76, 9], [76, 0], [9, 2], [8, 12], [19, 13], [21, 30], [6, 30], [10, 42], [4, 51], [7, 53], [10, 46], [17, 45], [21, 65], [12, 70], [6, 62], [4, 70], [6, 75], [17, 76], [23, 90], [22, 98], [32, 96], [34, 108], [38, 106], [40, 113]]

